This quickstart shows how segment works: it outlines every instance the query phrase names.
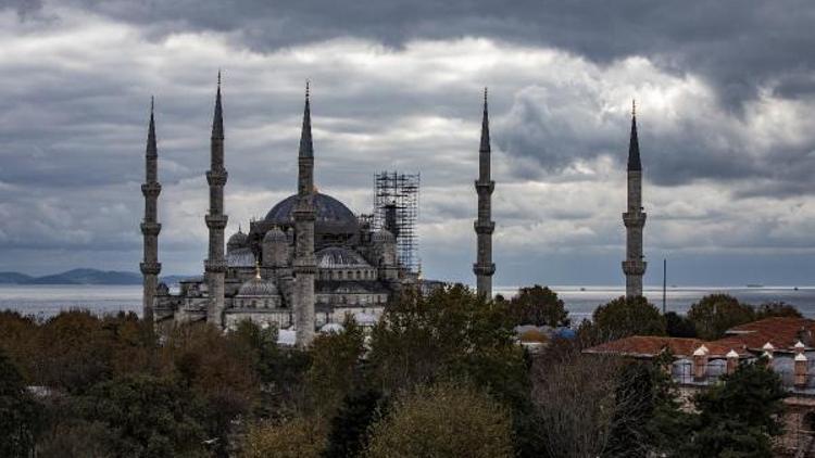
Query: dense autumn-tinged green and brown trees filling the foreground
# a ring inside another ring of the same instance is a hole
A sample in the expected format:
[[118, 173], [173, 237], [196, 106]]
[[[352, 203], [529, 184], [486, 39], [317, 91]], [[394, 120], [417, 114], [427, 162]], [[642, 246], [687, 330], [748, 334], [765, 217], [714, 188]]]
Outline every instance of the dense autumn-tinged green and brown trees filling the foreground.
[[723, 378], [688, 412], [664, 370], [669, 355], [581, 352], [632, 334], [715, 334], [742, 313], [797, 314], [726, 296], [694, 307], [662, 316], [620, 297], [578, 339], [554, 336], [534, 356], [514, 327], [566, 320], [537, 285], [493, 302], [462, 285], [406, 291], [372, 329], [348, 320], [306, 349], [248, 321], [159, 336], [134, 315], [0, 313], [0, 455], [768, 456], [783, 391], [762, 365]]

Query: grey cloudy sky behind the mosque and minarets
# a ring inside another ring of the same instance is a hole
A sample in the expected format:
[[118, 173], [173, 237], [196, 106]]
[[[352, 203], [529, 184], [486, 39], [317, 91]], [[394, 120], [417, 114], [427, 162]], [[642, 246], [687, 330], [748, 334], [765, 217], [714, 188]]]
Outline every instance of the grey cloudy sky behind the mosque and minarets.
[[428, 277], [472, 282], [490, 88], [496, 283], [620, 284], [637, 99], [645, 282], [813, 284], [815, 3], [0, 0], [0, 270], [138, 269], [156, 98], [160, 260], [202, 270], [224, 72], [227, 232], [296, 186], [354, 212], [419, 171]]

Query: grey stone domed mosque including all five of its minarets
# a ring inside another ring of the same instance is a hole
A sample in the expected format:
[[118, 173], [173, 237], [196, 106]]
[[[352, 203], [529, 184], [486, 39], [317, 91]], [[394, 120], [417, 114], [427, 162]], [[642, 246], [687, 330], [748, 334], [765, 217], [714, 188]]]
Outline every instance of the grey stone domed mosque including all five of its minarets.
[[[627, 294], [640, 295], [642, 262], [641, 167], [636, 120], [631, 127], [628, 162]], [[396, 218], [385, 218], [385, 227], [372, 228], [369, 218], [355, 215], [339, 200], [314, 186], [315, 152], [311, 132], [309, 86], [298, 151], [297, 193], [274, 204], [265, 218], [250, 221], [248, 232], [238, 229], [225, 242], [228, 217], [224, 213], [224, 116], [221, 75], [215, 96], [210, 149], [210, 206], [204, 222], [209, 228], [208, 257], [203, 276], [180, 282], [177, 293], [159, 283], [158, 147], [151, 103], [146, 151], [143, 234], [143, 316], [159, 328], [175, 323], [210, 322], [231, 329], [241, 320], [261, 326], [293, 330], [297, 345], [308, 345], [317, 329], [342, 322], [351, 315], [371, 325], [405, 289], [421, 289], [417, 272], [402, 266], [397, 254]], [[490, 170], [491, 151], [487, 91], [484, 93], [479, 173], [475, 181], [478, 214], [476, 232], [476, 276], [478, 294], [492, 296], [491, 195], [494, 181]], [[226, 250], [224, 250], [226, 249]]]

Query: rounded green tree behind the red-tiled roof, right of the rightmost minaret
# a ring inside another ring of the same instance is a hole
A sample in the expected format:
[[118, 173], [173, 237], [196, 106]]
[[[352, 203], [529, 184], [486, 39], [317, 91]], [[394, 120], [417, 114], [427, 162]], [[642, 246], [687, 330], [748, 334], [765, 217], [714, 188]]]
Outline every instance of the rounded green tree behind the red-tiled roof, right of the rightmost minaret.
[[727, 294], [710, 294], [691, 305], [688, 319], [704, 340], [716, 340], [728, 329], [755, 320], [753, 307]]

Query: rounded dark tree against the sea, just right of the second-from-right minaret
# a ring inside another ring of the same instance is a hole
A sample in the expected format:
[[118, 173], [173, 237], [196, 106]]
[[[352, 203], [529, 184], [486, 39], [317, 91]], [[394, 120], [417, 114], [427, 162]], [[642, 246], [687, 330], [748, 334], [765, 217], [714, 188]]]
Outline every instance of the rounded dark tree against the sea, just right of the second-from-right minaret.
[[518, 325], [568, 326], [568, 311], [557, 293], [547, 287], [536, 284], [522, 288], [510, 300], [510, 308]]

